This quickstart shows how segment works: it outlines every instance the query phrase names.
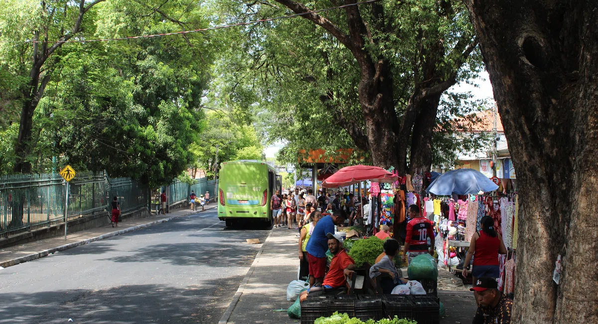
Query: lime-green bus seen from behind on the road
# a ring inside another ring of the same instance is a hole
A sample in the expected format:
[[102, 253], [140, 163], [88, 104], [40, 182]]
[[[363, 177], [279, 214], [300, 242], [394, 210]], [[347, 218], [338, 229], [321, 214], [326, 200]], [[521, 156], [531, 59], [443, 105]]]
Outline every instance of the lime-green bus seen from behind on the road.
[[220, 164], [218, 219], [231, 227], [241, 219], [264, 226], [273, 222], [270, 197], [280, 190], [282, 176], [260, 160], [238, 160]]

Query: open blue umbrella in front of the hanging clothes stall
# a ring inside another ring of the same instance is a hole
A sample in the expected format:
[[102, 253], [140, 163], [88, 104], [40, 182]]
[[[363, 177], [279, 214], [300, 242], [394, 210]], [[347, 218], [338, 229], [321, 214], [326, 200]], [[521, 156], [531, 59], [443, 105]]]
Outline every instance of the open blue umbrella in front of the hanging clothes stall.
[[438, 176], [432, 181], [426, 192], [435, 195], [466, 195], [480, 191], [489, 192], [498, 189], [492, 180], [473, 169], [457, 169]]

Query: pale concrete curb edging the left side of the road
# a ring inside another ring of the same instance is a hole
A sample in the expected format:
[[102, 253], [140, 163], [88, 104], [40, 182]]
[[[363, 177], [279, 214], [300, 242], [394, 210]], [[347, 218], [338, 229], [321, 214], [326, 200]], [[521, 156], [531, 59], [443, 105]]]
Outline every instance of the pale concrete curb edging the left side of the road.
[[200, 212], [191, 212], [190, 211], [188, 213], [184, 213], [183, 215], [172, 216], [170, 218], [158, 219], [157, 221], [148, 222], [148, 223], [145, 223], [145, 224], [139, 224], [139, 225], [136, 225], [136, 226], [133, 226], [133, 227], [129, 227], [129, 228], [124, 228], [123, 230], [120, 230], [120, 231], [114, 231], [114, 232], [102, 234], [100, 236], [91, 237], [90, 239], [80, 240], [78, 242], [72, 242], [72, 243], [64, 244], [64, 245], [61, 245], [61, 246], [58, 246], [58, 247], [53, 247], [51, 249], [43, 250], [43, 251], [38, 252], [38, 253], [32, 253], [30, 255], [21, 256], [20, 258], [11, 259], [11, 260], [8, 260], [8, 261], [1, 262], [0, 263], [0, 267], [2, 267], [2, 268], [12, 267], [13, 265], [21, 264], [23, 262], [33, 261], [35, 259], [43, 258], [44, 256], [48, 256], [48, 255], [50, 255], [52, 253], [56, 253], [56, 252], [60, 252], [60, 251], [63, 251], [63, 250], [68, 250], [68, 249], [72, 249], [73, 247], [81, 246], [81, 245], [84, 245], [84, 244], [87, 244], [87, 243], [91, 243], [91, 242], [95, 242], [95, 241], [99, 241], [99, 240], [103, 240], [103, 239], [108, 239], [108, 237], [117, 236], [117, 235], [121, 235], [121, 234], [124, 234], [124, 233], [129, 233], [129, 232], [132, 232], [132, 231], [136, 231], [136, 230], [141, 230], [141, 228], [146, 228], [146, 227], [150, 227], [152, 225], [156, 225], [156, 224], [160, 224], [160, 223], [163, 223], [163, 222], [171, 221], [172, 219], [179, 218], [179, 217], [187, 217], [187, 216], [190, 216], [190, 215], [194, 215], [196, 213], [200, 213]]

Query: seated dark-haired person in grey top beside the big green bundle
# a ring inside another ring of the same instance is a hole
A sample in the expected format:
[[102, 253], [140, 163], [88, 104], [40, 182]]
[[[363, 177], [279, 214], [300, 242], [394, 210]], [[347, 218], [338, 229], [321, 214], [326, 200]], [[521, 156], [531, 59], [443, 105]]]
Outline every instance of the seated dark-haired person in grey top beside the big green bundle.
[[401, 270], [395, 266], [395, 256], [399, 253], [400, 248], [401, 244], [397, 240], [386, 240], [384, 242], [385, 256], [370, 268], [370, 278], [376, 280], [382, 288], [383, 294], [390, 294], [396, 285], [407, 282], [407, 280], [401, 278]]

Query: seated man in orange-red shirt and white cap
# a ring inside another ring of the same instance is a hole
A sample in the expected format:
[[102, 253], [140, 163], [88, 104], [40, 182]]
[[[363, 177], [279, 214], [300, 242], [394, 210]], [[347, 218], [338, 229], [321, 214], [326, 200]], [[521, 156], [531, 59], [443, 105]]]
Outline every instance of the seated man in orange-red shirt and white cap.
[[326, 293], [328, 290], [342, 288], [347, 285], [346, 276], [350, 276], [355, 270], [355, 261], [351, 258], [343, 247], [343, 238], [332, 233], [326, 234], [328, 237], [328, 249], [334, 255], [330, 261], [328, 273], [324, 277], [322, 286], [315, 286], [307, 289], [299, 295], [299, 300], [303, 302], [307, 295], [312, 292], [318, 294]]

